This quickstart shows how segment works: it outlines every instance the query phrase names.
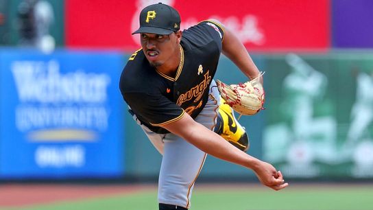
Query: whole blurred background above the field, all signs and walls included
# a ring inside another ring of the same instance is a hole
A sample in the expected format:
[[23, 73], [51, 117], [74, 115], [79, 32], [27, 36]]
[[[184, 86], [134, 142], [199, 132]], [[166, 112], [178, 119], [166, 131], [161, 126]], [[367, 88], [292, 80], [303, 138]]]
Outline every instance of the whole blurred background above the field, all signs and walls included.
[[[119, 92], [159, 1], [0, 0], [0, 183], [156, 183], [161, 156]], [[373, 1], [160, 1], [182, 29], [218, 19], [265, 71], [265, 110], [243, 116], [252, 156], [288, 181], [373, 179]], [[216, 79], [247, 78], [221, 56]], [[258, 182], [208, 156], [201, 182]]]

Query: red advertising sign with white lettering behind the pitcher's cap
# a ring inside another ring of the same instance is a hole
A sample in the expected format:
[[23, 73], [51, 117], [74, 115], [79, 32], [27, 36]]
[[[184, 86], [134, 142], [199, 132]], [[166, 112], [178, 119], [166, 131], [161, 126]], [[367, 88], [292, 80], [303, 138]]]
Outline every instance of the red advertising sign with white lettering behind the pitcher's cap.
[[[161, 1], [180, 12], [182, 29], [217, 19], [250, 50], [329, 47], [329, 1]], [[67, 1], [66, 44], [69, 47], [139, 49], [139, 14], [158, 1]]]

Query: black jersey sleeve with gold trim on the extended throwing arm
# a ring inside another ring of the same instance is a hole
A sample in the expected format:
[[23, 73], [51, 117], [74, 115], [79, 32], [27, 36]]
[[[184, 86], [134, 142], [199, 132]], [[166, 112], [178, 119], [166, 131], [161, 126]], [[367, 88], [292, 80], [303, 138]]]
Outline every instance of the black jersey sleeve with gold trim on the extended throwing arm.
[[184, 110], [164, 95], [125, 93], [125, 101], [140, 119], [152, 126], [163, 126], [178, 121]]

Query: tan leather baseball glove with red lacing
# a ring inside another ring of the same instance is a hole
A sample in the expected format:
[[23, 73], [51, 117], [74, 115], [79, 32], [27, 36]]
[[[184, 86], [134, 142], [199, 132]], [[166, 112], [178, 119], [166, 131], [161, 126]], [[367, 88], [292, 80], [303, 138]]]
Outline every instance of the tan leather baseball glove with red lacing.
[[226, 104], [241, 115], [255, 115], [264, 109], [265, 92], [259, 78], [264, 72], [249, 82], [240, 84], [224, 84], [216, 80], [217, 89], [221, 97], [226, 100]]

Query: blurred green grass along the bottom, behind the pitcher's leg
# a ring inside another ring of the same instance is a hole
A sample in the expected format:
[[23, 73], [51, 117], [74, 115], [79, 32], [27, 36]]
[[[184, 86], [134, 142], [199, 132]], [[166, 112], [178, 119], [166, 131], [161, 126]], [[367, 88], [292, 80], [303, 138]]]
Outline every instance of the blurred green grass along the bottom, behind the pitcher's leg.
[[[1, 199], [1, 198], [0, 198]], [[3, 210], [4, 208], [0, 208]], [[12, 207], [19, 210], [158, 210], [156, 189], [130, 194]], [[196, 185], [191, 210], [373, 209], [372, 185], [290, 185], [282, 191], [259, 185]]]

